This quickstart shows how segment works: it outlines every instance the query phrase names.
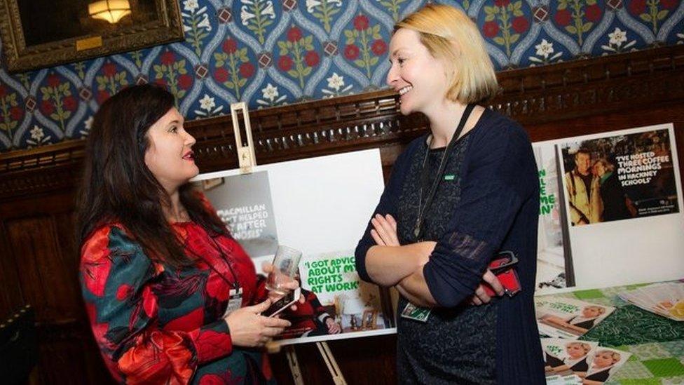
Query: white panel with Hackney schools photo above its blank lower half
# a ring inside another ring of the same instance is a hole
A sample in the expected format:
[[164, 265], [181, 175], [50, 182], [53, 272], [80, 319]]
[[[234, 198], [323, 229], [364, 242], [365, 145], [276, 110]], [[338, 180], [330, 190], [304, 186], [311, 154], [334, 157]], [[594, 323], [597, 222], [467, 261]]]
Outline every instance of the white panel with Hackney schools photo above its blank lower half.
[[558, 154], [577, 288], [684, 277], [671, 123], [568, 138]]

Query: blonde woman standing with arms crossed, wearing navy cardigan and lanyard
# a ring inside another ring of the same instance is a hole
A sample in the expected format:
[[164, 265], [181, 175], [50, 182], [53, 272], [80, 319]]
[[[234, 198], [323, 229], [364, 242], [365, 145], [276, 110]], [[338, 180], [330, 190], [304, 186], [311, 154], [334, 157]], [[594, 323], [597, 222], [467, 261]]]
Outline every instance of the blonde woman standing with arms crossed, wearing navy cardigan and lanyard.
[[[523, 128], [478, 104], [498, 90], [484, 41], [461, 11], [428, 5], [395, 26], [390, 62], [402, 114], [430, 122], [397, 158], [356, 249], [360, 276], [401, 294], [397, 378], [543, 384], [537, 167]], [[512, 297], [487, 269], [502, 250], [519, 259]]]

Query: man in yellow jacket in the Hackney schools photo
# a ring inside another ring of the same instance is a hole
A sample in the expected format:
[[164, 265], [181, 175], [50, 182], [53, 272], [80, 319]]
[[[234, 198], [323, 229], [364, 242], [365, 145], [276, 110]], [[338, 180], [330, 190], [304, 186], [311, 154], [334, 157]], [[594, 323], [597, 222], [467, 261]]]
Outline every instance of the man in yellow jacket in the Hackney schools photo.
[[580, 148], [575, 153], [575, 168], [566, 173], [566, 189], [573, 226], [601, 222], [600, 178], [591, 173], [591, 154]]

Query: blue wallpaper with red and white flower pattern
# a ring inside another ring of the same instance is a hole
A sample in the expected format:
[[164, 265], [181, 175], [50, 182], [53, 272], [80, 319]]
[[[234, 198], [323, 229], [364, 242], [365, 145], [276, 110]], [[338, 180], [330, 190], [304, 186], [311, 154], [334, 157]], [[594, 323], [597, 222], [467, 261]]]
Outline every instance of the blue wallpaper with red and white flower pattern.
[[[680, 0], [458, 0], [498, 70], [684, 43]], [[392, 26], [425, 0], [179, 0], [186, 40], [25, 74], [0, 68], [0, 151], [88, 135], [121, 88], [162, 83], [186, 119], [385, 87]]]

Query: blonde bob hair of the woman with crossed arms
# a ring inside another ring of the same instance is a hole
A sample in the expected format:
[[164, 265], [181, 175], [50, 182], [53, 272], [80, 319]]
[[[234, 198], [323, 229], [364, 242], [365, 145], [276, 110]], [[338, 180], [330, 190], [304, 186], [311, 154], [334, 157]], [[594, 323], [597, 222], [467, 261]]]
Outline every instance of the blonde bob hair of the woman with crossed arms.
[[465, 13], [451, 6], [428, 4], [397, 22], [399, 28], [420, 34], [420, 43], [433, 58], [449, 66], [446, 98], [463, 104], [477, 103], [498, 92], [496, 74], [484, 40]]

